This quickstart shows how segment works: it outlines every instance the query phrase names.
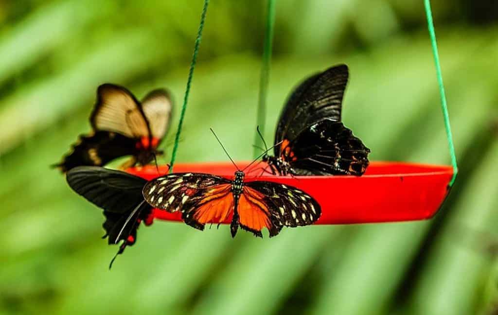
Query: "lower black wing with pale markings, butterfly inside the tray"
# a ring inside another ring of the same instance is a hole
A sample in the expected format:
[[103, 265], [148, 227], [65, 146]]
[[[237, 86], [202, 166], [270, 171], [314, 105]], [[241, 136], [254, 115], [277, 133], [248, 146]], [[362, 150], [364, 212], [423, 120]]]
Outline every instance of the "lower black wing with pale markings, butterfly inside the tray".
[[331, 119], [309, 126], [282, 148], [283, 159], [296, 175], [361, 176], [369, 165], [369, 153], [350, 129]]

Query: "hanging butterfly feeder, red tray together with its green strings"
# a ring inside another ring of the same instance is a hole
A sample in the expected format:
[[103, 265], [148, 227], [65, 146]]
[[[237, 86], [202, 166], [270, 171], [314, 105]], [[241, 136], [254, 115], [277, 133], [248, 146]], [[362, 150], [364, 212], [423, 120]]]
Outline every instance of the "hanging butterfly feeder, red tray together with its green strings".
[[[195, 65], [196, 62], [208, 2], [209, 0], [205, 0], [204, 2], [204, 10], [201, 18], [201, 25], [199, 27], [198, 38], [195, 44], [196, 46], [194, 49], [192, 65]], [[263, 180], [276, 182], [293, 186], [306, 192], [313, 197], [322, 208], [322, 215], [315, 224], [410, 221], [428, 219], [434, 216], [449, 194], [450, 188], [453, 185], [457, 174], [457, 164], [451, 137], [451, 129], [446, 107], [441, 69], [439, 66], [436, 38], [429, 0], [425, 0], [425, 9], [434, 53], [436, 74], [440, 86], [441, 106], [446, 125], [452, 166], [405, 162], [371, 162], [363, 176], [275, 176], [267, 173], [249, 173], [246, 175], [245, 181], [250, 182], [251, 180]], [[273, 20], [274, 1], [269, 0], [268, 20], [263, 52], [263, 70], [261, 71], [261, 86], [263, 88], [260, 91], [261, 95], [259, 98], [260, 103], [258, 113], [263, 112], [262, 108], [264, 108], [268, 65], [271, 55]], [[193, 67], [190, 71], [182, 114], [184, 113], [188, 100], [192, 73]], [[297, 90], [299, 90], [299, 88]], [[297, 94], [299, 94], [299, 91], [297, 91]], [[342, 95], [340, 97], [342, 100]], [[258, 117], [260, 116], [261, 115], [258, 115]], [[180, 119], [176, 140], [178, 140], [179, 137], [182, 121], [183, 119]], [[277, 134], [278, 129], [279, 127], [277, 127]], [[222, 176], [230, 180], [234, 179], [234, 172], [236, 171], [236, 168], [230, 162], [174, 164], [176, 149], [177, 142], [175, 143], [175, 147], [173, 149], [173, 158], [171, 161], [171, 165], [174, 165], [175, 173], [208, 173]], [[278, 150], [276, 151], [275, 155], [278, 156], [279, 152]], [[247, 165], [247, 163], [238, 164]], [[160, 166], [159, 169], [156, 169], [155, 166], [143, 166], [130, 168], [127, 171], [144, 179], [151, 180], [158, 177], [158, 171], [159, 174], [166, 174], [170, 170], [166, 166]], [[153, 210], [152, 215], [154, 218], [161, 220], [181, 220], [181, 214], [179, 212], [170, 213], [164, 210], [155, 209]], [[227, 220], [226, 223], [228, 222], [229, 220]]]

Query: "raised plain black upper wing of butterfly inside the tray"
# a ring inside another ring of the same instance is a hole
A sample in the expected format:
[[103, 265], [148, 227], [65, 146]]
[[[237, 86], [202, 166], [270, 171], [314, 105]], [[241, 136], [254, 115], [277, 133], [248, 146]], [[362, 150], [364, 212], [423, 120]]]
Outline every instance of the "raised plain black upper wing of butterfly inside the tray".
[[[301, 130], [325, 117], [340, 121], [348, 77], [348, 66], [339, 65], [301, 83], [282, 109], [275, 144], [292, 141]], [[276, 146], [275, 156], [279, 156], [280, 151], [280, 145]]]

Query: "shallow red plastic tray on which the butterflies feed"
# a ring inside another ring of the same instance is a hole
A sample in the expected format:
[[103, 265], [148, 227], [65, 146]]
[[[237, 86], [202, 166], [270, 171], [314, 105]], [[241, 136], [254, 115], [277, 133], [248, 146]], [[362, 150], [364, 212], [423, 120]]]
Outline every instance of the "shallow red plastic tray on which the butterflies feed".
[[[247, 163], [238, 163], [239, 167]], [[200, 172], [233, 179], [235, 167], [229, 163], [175, 164], [175, 173]], [[137, 167], [127, 170], [147, 180], [167, 173], [166, 166]], [[322, 206], [315, 224], [351, 224], [422, 220], [439, 210], [446, 195], [453, 169], [445, 165], [401, 162], [372, 162], [362, 177], [296, 176], [283, 177], [246, 174], [246, 181], [264, 180], [299, 188]], [[153, 211], [162, 220], [181, 220], [181, 213]]]

